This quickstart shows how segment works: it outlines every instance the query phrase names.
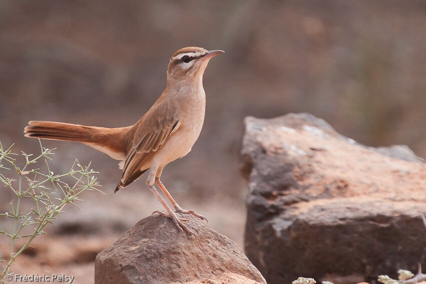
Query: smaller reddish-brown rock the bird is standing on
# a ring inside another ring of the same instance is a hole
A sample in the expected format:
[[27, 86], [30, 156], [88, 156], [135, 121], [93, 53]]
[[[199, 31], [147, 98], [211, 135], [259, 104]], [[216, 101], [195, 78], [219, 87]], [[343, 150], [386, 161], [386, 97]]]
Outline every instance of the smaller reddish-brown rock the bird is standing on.
[[196, 237], [162, 216], [140, 220], [95, 261], [96, 284], [266, 283], [231, 239], [184, 215]]

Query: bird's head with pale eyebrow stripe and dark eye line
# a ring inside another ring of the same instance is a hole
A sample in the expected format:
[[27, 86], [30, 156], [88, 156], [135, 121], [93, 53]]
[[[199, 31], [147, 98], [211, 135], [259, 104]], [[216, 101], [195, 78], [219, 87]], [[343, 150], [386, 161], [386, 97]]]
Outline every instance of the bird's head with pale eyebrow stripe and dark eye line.
[[208, 51], [198, 47], [186, 47], [176, 51], [170, 58], [167, 69], [167, 83], [201, 79], [208, 61], [222, 50]]

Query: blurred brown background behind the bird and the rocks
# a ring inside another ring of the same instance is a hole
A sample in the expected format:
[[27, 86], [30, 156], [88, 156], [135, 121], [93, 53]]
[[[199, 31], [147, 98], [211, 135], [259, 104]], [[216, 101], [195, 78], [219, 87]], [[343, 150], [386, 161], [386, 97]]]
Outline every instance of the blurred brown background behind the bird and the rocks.
[[[169, 58], [185, 46], [226, 53], [204, 74], [206, 116], [197, 143], [162, 180], [183, 208], [205, 215], [240, 247], [246, 116], [309, 112], [363, 144], [406, 144], [426, 158], [424, 0], [5, 0], [0, 140], [15, 142], [16, 152], [38, 153], [37, 140], [23, 136], [29, 120], [133, 124], [161, 94]], [[161, 205], [144, 176], [112, 195], [121, 171], [105, 154], [79, 143], [43, 145], [58, 148], [50, 163], [56, 172], [75, 158], [92, 161], [105, 195], [86, 194], [83, 210], [67, 208], [14, 269], [68, 271], [77, 283], [93, 282], [96, 253]], [[13, 196], [1, 190], [6, 210]]]

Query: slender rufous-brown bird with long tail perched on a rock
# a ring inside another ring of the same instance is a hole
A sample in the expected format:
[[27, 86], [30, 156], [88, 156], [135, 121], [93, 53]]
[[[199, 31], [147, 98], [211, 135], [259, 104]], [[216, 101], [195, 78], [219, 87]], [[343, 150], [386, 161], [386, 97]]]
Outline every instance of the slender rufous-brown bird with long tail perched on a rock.
[[[171, 161], [185, 156], [197, 140], [204, 121], [205, 93], [202, 75], [208, 61], [224, 51], [207, 51], [186, 47], [173, 54], [167, 69], [167, 85], [152, 107], [132, 126], [105, 128], [52, 121], [30, 121], [25, 136], [82, 142], [111, 158], [120, 160], [123, 170], [114, 190], [128, 186], [148, 171], [146, 184], [165, 208], [155, 211], [171, 218], [180, 231], [190, 234], [175, 212], [203, 216], [182, 209], [161, 183], [163, 168]], [[155, 189], [155, 183], [175, 208], [173, 212]], [[153, 213], [153, 214], [154, 214]]]

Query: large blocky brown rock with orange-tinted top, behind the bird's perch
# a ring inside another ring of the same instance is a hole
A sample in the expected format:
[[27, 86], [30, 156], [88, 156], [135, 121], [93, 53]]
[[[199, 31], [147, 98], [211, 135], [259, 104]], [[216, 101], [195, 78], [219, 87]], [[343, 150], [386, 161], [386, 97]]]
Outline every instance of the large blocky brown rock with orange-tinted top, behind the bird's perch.
[[426, 260], [426, 164], [408, 147], [366, 147], [288, 114], [246, 118], [242, 156], [246, 254], [269, 284], [370, 280]]

